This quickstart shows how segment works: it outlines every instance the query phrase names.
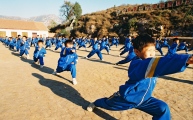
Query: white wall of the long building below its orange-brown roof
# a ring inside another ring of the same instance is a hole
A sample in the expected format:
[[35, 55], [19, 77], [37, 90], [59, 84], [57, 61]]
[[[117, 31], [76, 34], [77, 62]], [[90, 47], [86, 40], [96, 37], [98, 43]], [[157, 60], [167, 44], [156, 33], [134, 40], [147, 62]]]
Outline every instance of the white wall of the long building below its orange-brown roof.
[[32, 37], [32, 33], [37, 33], [42, 37], [48, 37], [48, 31], [34, 31], [34, 30], [14, 30], [14, 29], [0, 29], [0, 31], [5, 31], [6, 36], [11, 37], [11, 32], [17, 32], [17, 35], [22, 35], [22, 32], [27, 32], [28, 37]]

